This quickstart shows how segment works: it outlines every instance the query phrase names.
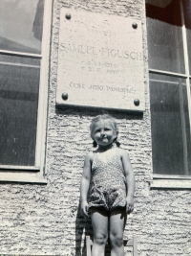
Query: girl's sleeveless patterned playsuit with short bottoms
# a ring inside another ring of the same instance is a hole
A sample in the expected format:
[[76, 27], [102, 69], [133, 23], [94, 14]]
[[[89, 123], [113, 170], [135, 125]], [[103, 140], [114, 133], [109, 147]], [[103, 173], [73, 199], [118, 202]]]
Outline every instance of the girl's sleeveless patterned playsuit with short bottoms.
[[89, 207], [103, 206], [111, 211], [126, 204], [126, 179], [119, 149], [109, 151], [109, 159], [94, 152]]

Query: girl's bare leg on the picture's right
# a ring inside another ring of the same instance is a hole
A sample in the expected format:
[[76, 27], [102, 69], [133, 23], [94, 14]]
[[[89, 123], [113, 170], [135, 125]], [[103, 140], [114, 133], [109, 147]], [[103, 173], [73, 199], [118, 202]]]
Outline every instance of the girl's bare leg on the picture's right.
[[111, 256], [124, 256], [123, 232], [126, 222], [125, 208], [118, 207], [110, 214]]

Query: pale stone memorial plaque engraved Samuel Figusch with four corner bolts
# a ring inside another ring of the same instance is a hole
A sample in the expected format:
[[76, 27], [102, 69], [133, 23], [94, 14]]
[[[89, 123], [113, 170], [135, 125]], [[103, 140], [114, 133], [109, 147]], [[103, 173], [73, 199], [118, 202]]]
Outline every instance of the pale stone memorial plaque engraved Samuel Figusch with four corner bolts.
[[56, 105], [143, 111], [141, 21], [62, 8]]

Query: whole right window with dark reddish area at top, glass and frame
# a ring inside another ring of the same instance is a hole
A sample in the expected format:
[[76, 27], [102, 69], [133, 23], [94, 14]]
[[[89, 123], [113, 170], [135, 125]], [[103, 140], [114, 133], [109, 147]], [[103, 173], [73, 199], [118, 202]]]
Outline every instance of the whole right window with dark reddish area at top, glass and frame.
[[146, 16], [154, 179], [191, 179], [191, 2], [147, 0]]

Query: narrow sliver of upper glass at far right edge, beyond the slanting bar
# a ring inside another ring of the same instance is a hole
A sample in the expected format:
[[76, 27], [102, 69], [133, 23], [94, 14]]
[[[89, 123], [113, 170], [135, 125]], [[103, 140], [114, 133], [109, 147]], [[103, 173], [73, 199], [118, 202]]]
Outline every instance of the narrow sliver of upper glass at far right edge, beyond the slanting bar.
[[191, 74], [191, 1], [183, 1], [183, 10], [185, 17], [186, 37], [188, 46], [189, 72]]

